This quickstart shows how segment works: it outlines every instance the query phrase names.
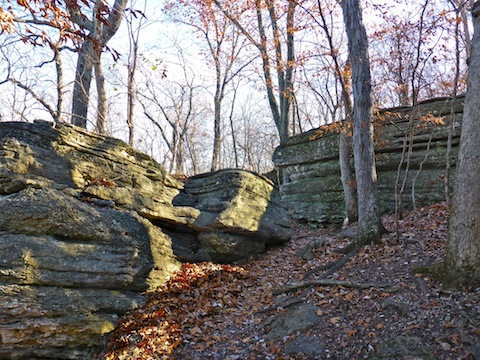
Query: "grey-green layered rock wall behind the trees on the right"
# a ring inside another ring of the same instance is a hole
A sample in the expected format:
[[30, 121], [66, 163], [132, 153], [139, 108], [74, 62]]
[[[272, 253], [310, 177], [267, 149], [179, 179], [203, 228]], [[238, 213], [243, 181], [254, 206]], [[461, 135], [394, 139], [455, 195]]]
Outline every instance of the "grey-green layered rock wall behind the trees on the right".
[[[456, 117], [451, 155], [453, 168], [463, 100], [459, 97], [453, 104]], [[434, 99], [420, 103], [416, 109], [395, 108], [380, 113], [376, 120], [375, 150], [384, 213], [394, 212], [395, 188], [403, 184], [404, 209], [411, 208], [413, 202], [422, 206], [444, 201], [443, 177], [451, 109], [451, 99]], [[409, 123], [409, 118], [414, 121]], [[443, 118], [443, 125], [436, 123], [438, 118]], [[322, 135], [312, 140], [318, 130], [323, 130]], [[288, 178], [281, 186], [282, 201], [296, 219], [319, 226], [343, 221], [338, 142], [338, 133], [323, 128], [293, 136], [276, 149], [273, 160]]]

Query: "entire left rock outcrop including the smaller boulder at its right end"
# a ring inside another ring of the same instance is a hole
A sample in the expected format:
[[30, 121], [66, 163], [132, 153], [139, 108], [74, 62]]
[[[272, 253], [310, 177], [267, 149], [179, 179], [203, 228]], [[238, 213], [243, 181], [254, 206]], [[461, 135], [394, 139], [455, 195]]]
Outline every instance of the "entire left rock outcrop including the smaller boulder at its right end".
[[0, 358], [92, 359], [177, 258], [233, 261], [287, 241], [273, 190], [238, 170], [183, 184], [122, 141], [0, 123]]

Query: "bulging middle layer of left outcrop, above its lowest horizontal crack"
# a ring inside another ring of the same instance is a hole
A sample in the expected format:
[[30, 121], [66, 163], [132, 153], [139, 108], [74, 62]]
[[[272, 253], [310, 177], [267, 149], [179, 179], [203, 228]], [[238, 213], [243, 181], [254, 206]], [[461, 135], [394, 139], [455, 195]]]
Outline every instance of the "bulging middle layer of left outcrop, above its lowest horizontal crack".
[[178, 269], [170, 239], [145, 219], [54, 189], [2, 196], [0, 250], [0, 280], [22, 285], [143, 291]]

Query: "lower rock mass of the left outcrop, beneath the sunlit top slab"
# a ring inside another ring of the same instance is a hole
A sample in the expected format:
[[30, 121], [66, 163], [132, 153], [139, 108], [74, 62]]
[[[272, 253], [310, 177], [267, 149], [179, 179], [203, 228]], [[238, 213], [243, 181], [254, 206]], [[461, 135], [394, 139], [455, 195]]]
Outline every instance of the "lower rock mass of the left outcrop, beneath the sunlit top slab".
[[147, 220], [56, 189], [1, 196], [0, 253], [0, 358], [92, 358], [139, 293], [178, 269]]

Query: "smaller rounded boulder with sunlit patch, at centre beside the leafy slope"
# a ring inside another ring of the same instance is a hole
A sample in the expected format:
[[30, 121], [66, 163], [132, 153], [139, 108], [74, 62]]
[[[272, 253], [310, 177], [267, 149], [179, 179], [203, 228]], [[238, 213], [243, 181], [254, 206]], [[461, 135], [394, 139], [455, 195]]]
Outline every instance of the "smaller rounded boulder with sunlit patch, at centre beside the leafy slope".
[[174, 249], [188, 261], [230, 262], [291, 236], [290, 218], [272, 181], [252, 172], [227, 169], [193, 176], [174, 205], [199, 211], [186, 227], [176, 225], [183, 236]]

